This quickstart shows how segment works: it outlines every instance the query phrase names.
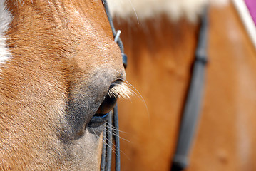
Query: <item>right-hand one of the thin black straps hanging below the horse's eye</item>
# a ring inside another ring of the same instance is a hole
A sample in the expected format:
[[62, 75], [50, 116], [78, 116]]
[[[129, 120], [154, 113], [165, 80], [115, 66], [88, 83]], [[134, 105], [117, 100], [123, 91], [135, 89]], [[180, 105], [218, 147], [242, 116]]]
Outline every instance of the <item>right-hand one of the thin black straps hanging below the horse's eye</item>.
[[120, 142], [119, 142], [119, 124], [118, 124], [118, 105], [116, 104], [115, 108], [113, 109], [113, 126], [115, 128], [115, 145], [116, 145], [116, 171], [120, 171]]

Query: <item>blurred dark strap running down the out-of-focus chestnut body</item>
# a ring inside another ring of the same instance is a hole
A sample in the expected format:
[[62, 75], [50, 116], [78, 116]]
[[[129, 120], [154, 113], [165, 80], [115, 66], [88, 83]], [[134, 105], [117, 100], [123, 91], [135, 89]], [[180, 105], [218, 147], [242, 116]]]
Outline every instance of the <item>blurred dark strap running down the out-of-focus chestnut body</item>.
[[198, 46], [195, 51], [193, 73], [188, 89], [188, 96], [185, 101], [183, 118], [180, 124], [178, 144], [171, 171], [184, 170], [188, 166], [188, 153], [190, 152], [195, 135], [195, 128], [198, 124], [199, 113], [202, 106], [203, 87], [205, 83], [205, 64], [207, 63], [206, 44], [208, 39], [208, 12], [205, 8], [198, 38]]

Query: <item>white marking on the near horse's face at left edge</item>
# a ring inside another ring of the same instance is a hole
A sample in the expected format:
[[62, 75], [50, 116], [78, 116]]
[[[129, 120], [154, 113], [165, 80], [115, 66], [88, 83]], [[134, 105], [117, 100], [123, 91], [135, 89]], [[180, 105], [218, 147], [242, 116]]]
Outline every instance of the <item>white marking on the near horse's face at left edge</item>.
[[0, 0], [0, 66], [11, 58], [11, 53], [6, 46], [5, 33], [11, 24], [11, 13], [6, 9], [4, 0]]

